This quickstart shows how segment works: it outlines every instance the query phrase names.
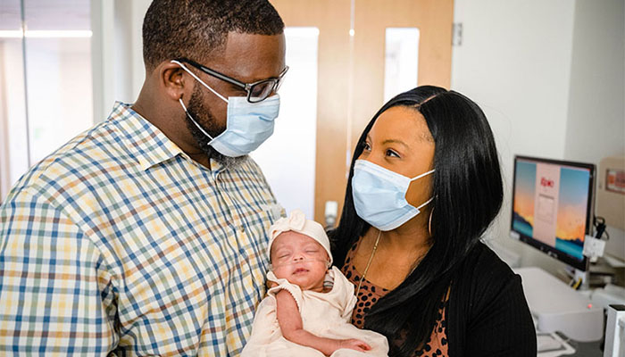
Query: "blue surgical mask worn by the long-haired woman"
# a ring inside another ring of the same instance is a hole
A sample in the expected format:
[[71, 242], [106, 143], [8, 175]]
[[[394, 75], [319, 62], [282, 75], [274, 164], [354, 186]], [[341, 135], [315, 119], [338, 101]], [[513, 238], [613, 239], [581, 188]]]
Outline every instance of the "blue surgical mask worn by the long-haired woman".
[[405, 195], [410, 183], [434, 172], [430, 170], [415, 178], [407, 178], [375, 163], [357, 160], [352, 178], [352, 196], [358, 216], [382, 231], [400, 227], [432, 201], [414, 207]]

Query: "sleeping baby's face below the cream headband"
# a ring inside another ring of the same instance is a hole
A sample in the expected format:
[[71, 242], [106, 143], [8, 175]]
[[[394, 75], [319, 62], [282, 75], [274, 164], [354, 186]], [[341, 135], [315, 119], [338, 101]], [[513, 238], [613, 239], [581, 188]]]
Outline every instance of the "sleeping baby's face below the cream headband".
[[316, 240], [292, 230], [280, 233], [271, 245], [271, 266], [277, 278], [286, 278], [302, 290], [323, 290], [329, 257]]

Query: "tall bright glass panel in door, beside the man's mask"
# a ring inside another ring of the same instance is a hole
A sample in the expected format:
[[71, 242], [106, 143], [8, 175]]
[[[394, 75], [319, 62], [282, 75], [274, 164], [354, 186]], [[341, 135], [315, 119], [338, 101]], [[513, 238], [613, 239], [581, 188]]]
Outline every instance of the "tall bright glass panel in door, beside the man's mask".
[[252, 153], [278, 202], [312, 219], [317, 132], [317, 44], [319, 29], [287, 28], [287, 64], [280, 87], [280, 115], [266, 143]]

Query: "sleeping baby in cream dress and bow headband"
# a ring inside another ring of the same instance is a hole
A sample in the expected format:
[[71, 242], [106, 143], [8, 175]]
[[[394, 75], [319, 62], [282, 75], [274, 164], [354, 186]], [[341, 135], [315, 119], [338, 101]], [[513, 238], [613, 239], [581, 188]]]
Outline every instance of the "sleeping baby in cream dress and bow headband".
[[271, 226], [267, 253], [273, 286], [258, 305], [242, 357], [387, 356], [385, 336], [349, 323], [354, 285], [332, 267], [321, 224], [291, 212]]

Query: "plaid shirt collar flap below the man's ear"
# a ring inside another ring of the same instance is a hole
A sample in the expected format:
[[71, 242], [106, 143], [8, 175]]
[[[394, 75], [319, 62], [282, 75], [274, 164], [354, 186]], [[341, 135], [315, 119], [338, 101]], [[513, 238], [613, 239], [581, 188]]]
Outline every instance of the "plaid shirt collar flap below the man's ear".
[[120, 129], [121, 137], [129, 144], [142, 170], [184, 154], [178, 145], [135, 112], [130, 104], [115, 102], [108, 120]]

